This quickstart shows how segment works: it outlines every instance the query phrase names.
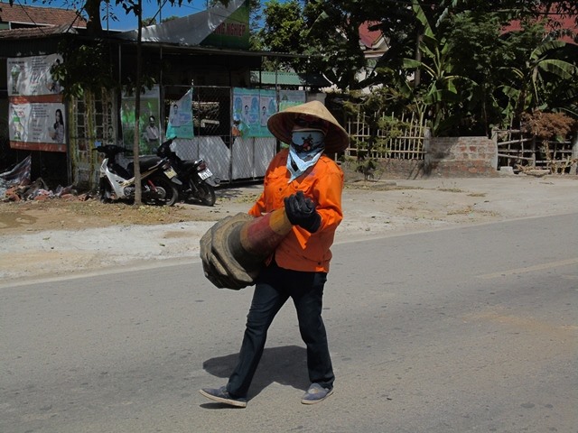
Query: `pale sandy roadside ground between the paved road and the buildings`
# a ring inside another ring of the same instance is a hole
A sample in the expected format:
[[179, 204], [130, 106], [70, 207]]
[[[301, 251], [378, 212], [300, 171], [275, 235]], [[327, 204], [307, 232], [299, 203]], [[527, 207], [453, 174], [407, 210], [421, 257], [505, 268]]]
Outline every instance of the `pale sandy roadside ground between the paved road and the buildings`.
[[[260, 190], [260, 185], [220, 188], [214, 207], [180, 204], [173, 212], [187, 213], [182, 221], [146, 226], [123, 222], [122, 212], [102, 226], [86, 214], [61, 221], [52, 215], [42, 225], [42, 217], [31, 217], [31, 212], [14, 217], [9, 207], [0, 207], [0, 286], [199, 261], [200, 237], [219, 219], [246, 212]], [[578, 178], [356, 181], [344, 190], [343, 211], [336, 243], [558, 215], [578, 212]]]

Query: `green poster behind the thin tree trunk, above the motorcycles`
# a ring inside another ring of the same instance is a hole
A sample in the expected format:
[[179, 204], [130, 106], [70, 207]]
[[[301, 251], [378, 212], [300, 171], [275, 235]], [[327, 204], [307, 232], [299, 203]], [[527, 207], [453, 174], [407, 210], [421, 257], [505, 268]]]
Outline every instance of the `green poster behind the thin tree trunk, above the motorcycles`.
[[[154, 124], [158, 127], [159, 118], [159, 98], [160, 91], [158, 86], [146, 90], [140, 97], [140, 115], [139, 115], [139, 129], [138, 134], [138, 149], [139, 155], [154, 155], [158, 143], [150, 144], [147, 136], [146, 128], [151, 124], [151, 118], [154, 119]], [[122, 103], [120, 106], [120, 119], [122, 123], [123, 143], [126, 149], [132, 151], [135, 145], [135, 95], [123, 94]]]

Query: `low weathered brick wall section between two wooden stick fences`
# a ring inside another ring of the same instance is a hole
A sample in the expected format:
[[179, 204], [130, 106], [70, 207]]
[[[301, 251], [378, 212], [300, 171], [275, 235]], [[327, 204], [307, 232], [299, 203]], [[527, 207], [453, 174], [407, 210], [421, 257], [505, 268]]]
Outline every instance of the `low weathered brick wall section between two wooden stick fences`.
[[425, 137], [424, 175], [441, 178], [498, 176], [498, 148], [486, 137]]

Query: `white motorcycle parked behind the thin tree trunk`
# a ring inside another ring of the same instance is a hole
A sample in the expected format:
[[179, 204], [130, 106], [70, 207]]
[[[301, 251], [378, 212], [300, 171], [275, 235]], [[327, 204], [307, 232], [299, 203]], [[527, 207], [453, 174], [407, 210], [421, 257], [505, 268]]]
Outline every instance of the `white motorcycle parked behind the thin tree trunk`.
[[[126, 152], [124, 147], [115, 144], [100, 145], [93, 149], [105, 155], [100, 164], [98, 195], [100, 201], [135, 199], [135, 163], [130, 162], [126, 169], [117, 162], [117, 155]], [[139, 159], [141, 169], [141, 191], [145, 204], [172, 206], [179, 198], [177, 173], [171, 161], [166, 158], [147, 156]]]

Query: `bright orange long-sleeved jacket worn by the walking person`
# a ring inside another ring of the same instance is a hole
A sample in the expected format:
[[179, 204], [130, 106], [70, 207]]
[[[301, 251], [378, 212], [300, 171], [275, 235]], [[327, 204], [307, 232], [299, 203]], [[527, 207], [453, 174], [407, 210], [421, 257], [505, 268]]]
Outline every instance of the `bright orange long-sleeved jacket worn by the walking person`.
[[[305, 197], [312, 198], [322, 224], [315, 233], [309, 233], [300, 226], [284, 238], [275, 250], [275, 262], [284, 269], [305, 272], [329, 272], [331, 244], [337, 226], [343, 219], [341, 191], [343, 171], [325, 155], [307, 169], [301, 176], [289, 181], [287, 170], [287, 149], [278, 152], [266, 170], [264, 188], [255, 205], [248, 211], [253, 217], [284, 207], [283, 199], [302, 190]], [[273, 257], [267, 260], [270, 263]]]

